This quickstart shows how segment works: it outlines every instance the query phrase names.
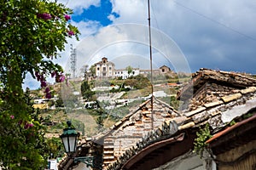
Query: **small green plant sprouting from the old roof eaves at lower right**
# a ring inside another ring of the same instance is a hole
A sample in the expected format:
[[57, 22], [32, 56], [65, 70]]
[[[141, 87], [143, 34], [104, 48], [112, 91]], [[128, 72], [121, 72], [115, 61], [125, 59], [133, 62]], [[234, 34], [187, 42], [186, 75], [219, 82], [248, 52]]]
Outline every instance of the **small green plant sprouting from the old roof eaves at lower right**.
[[196, 133], [196, 136], [197, 138], [195, 139], [195, 142], [194, 142], [194, 151], [196, 152], [196, 154], [202, 156], [203, 151], [207, 147], [207, 144], [206, 144], [207, 139], [212, 138], [209, 124], [207, 123], [205, 127], [200, 128], [199, 132]]

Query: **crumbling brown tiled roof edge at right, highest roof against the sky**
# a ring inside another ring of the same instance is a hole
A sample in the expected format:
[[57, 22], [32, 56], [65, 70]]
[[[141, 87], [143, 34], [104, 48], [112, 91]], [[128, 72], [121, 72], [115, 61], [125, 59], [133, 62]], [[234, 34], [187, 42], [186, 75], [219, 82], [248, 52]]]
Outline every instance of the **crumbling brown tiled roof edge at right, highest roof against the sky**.
[[201, 68], [200, 71], [195, 72], [189, 84], [177, 93], [177, 99], [190, 99], [206, 82], [217, 82], [225, 86], [240, 89], [256, 86], [256, 79], [252, 77], [241, 75], [233, 71], [215, 71]]

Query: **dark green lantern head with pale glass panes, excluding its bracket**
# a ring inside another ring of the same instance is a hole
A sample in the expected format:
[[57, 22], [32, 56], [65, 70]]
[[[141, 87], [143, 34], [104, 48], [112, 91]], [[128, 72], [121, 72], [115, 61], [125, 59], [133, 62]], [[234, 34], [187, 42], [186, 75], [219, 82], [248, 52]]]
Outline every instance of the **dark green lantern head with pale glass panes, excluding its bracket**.
[[78, 133], [75, 128], [71, 127], [71, 122], [67, 121], [67, 128], [64, 128], [61, 134], [61, 140], [65, 148], [65, 152], [70, 155], [76, 151]]

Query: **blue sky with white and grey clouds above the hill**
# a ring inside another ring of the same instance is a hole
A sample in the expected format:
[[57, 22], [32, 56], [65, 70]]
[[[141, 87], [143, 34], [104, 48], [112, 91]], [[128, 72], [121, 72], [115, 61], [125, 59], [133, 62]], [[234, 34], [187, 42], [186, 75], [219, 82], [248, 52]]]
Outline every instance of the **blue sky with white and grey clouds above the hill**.
[[[70, 44], [83, 65], [107, 57], [116, 68], [149, 67], [148, 0], [58, 0], [73, 9], [79, 41], [69, 38], [55, 60], [70, 71]], [[256, 2], [253, 0], [151, 0], [154, 68], [200, 68], [256, 74]], [[36, 87], [32, 81], [26, 84]]]

